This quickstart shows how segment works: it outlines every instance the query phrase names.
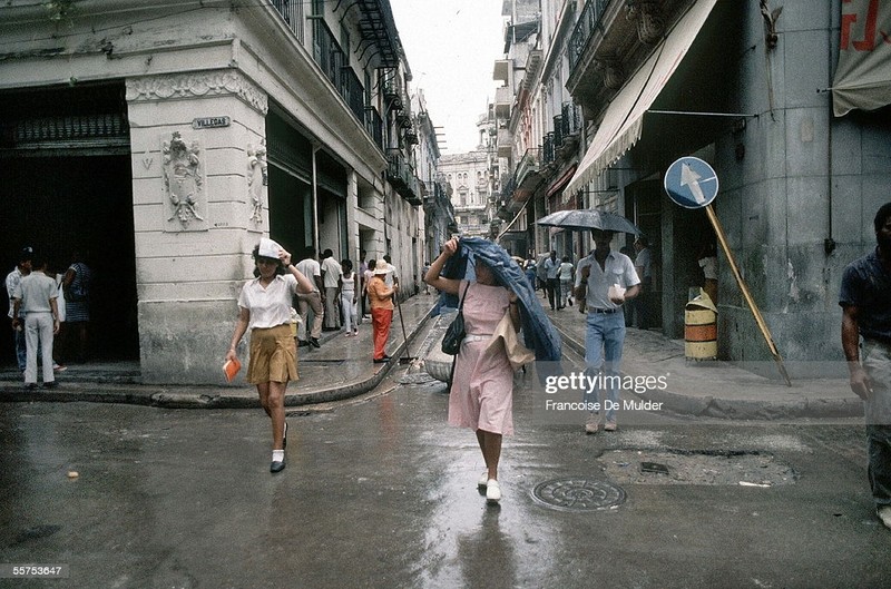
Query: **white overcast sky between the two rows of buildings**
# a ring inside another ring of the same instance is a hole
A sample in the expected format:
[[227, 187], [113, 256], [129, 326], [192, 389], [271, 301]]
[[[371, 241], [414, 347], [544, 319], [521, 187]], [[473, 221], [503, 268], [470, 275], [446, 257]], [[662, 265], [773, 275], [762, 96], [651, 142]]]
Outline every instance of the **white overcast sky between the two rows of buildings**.
[[[477, 148], [477, 120], [495, 98], [495, 62], [503, 57], [501, 0], [390, 0], [430, 118], [444, 132], [443, 154]], [[443, 137], [440, 136], [440, 143]]]

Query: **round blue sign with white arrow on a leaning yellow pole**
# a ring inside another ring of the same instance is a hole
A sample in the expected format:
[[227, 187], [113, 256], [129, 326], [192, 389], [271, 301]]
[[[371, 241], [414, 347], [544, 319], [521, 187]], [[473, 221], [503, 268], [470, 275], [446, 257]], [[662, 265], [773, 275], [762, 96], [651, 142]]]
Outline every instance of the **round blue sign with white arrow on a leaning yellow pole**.
[[712, 166], [696, 157], [682, 157], [672, 164], [665, 173], [665, 192], [668, 194], [668, 198], [684, 208], [705, 208], [705, 214], [708, 216], [708, 220], [715, 229], [715, 235], [721, 243], [721, 247], [724, 249], [724, 255], [727, 256], [731, 272], [733, 272], [733, 276], [736, 278], [736, 284], [740, 285], [743, 298], [745, 298], [748, 308], [752, 311], [752, 316], [755, 317], [755, 323], [757, 323], [764, 336], [764, 341], [767, 342], [767, 347], [776, 362], [776, 367], [786, 381], [786, 385], [792, 386], [789, 372], [786, 372], [785, 364], [783, 364], [783, 357], [780, 355], [780, 351], [773, 342], [771, 331], [764, 322], [764, 317], [761, 316], [761, 311], [755, 304], [755, 300], [752, 298], [752, 294], [748, 292], [748, 286], [746, 286], [743, 275], [740, 273], [740, 268], [736, 265], [736, 258], [733, 256], [733, 252], [727, 244], [724, 228], [721, 226], [721, 222], [712, 207], [712, 202], [715, 199], [715, 196], [717, 196], [717, 187], [718, 181], [715, 170]]

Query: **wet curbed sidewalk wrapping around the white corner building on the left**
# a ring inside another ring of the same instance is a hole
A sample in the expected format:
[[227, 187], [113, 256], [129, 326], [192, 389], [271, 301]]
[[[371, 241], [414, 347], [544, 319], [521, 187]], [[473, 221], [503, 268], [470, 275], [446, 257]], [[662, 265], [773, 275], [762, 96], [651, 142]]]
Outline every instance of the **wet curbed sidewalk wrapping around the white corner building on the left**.
[[[400, 303], [409, 353], [418, 355], [418, 342], [412, 338], [424, 326], [435, 304], [433, 295], [415, 295]], [[374, 389], [390, 369], [398, 366], [405, 355], [400, 312], [393, 312], [393, 324], [386, 353], [389, 363], [372, 362], [371, 320], [359, 326], [358, 337], [346, 337], [343, 332], [323, 332], [321, 349], [297, 349], [300, 381], [291, 383], [285, 395], [285, 406], [300, 406], [347, 399]], [[412, 345], [413, 344], [413, 345]], [[221, 365], [223, 359], [221, 356]], [[243, 371], [244, 373], [244, 371]], [[70, 365], [56, 374], [59, 385], [48, 390], [25, 390], [21, 374], [14, 366], [0, 372], [0, 401], [88, 401], [98, 403], [128, 403], [169, 409], [242, 409], [258, 408], [256, 387], [236, 380], [236, 386], [219, 385], [157, 385], [141, 384], [138, 362], [105, 362]]]

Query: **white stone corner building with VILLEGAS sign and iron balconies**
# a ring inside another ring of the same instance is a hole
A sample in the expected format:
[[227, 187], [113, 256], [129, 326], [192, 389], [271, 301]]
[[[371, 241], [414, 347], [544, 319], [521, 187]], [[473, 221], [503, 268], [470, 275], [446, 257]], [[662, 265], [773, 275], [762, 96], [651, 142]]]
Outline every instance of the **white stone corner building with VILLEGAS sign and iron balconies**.
[[411, 71], [388, 0], [11, 1], [0, 38], [0, 252], [11, 268], [32, 244], [59, 271], [88, 252], [97, 357], [221, 383], [263, 236], [417, 273]]

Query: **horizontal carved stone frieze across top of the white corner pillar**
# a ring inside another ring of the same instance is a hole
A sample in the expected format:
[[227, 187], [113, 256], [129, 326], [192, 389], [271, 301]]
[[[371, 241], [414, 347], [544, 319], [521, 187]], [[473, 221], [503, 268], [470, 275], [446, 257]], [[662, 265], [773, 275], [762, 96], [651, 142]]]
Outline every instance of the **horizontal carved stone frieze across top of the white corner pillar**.
[[127, 79], [127, 101], [188, 99], [233, 95], [266, 115], [268, 97], [235, 70], [198, 71]]

